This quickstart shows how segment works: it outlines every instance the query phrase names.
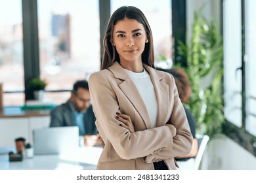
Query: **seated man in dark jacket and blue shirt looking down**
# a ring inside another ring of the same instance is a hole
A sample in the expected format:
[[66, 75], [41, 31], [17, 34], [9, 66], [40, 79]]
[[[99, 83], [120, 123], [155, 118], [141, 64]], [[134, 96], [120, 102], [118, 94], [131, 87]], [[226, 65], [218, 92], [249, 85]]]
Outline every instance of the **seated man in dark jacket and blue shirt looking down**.
[[50, 127], [76, 125], [79, 127], [79, 136], [83, 138], [80, 145], [99, 145], [101, 140], [90, 100], [88, 82], [86, 80], [75, 82], [70, 99], [51, 111]]

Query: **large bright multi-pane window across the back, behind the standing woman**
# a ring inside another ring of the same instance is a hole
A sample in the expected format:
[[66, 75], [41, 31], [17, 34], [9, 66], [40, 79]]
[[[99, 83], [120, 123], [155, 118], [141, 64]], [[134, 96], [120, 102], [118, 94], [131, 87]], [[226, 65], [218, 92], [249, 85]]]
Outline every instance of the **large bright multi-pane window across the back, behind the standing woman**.
[[[55, 104], [62, 103], [70, 97], [75, 80], [87, 79], [99, 71], [100, 35], [103, 34], [100, 18], [102, 25], [106, 24], [104, 18], [110, 12], [107, 6], [100, 14], [99, 3], [110, 2], [112, 12], [123, 5], [139, 7], [152, 28], [156, 61], [167, 59], [171, 63], [171, 0], [161, 3], [153, 0], [0, 0], [0, 82], [5, 92], [4, 105], [24, 105], [24, 80], [28, 82], [37, 75], [48, 83], [45, 98]], [[26, 20], [22, 20], [22, 7]], [[22, 22], [26, 24], [24, 33]], [[24, 56], [28, 59], [24, 60]], [[26, 99], [31, 98], [26, 91]]]

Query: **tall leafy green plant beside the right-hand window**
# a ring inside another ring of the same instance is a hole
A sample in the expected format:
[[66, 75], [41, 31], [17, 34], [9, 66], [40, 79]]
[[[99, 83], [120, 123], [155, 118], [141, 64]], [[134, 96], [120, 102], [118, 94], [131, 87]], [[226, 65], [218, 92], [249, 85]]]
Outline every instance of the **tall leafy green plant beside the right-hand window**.
[[[179, 42], [179, 55], [186, 59], [185, 71], [192, 84], [192, 95], [188, 108], [196, 117], [198, 131], [210, 137], [221, 133], [223, 114], [223, 42], [215, 23], [207, 22], [202, 16], [202, 8], [194, 14], [192, 39], [187, 44]], [[181, 67], [181, 65], [176, 65]], [[202, 88], [200, 80], [215, 73], [211, 84]]]

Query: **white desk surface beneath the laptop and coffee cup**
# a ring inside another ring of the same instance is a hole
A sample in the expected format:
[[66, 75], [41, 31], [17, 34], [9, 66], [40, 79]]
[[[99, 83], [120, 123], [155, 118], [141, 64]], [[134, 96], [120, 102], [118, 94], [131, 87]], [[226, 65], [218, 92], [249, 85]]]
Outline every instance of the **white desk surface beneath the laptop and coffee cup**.
[[101, 152], [100, 147], [79, 147], [64, 154], [37, 155], [13, 162], [9, 162], [8, 154], [0, 154], [0, 170], [93, 170]]

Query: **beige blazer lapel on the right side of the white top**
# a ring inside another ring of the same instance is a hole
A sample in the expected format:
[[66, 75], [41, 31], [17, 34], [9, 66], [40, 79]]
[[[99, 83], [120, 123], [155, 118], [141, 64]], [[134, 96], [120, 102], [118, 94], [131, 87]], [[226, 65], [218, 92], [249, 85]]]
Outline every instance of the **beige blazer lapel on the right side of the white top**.
[[161, 79], [165, 77], [163, 73], [156, 71], [152, 67], [149, 67], [146, 64], [143, 64], [144, 68], [150, 74], [150, 78], [154, 85], [155, 93], [156, 93], [156, 100], [158, 103], [158, 116], [156, 121], [156, 126], [165, 125], [167, 121], [167, 113], [169, 112], [170, 107], [170, 100], [169, 100], [169, 86], [163, 82]]

